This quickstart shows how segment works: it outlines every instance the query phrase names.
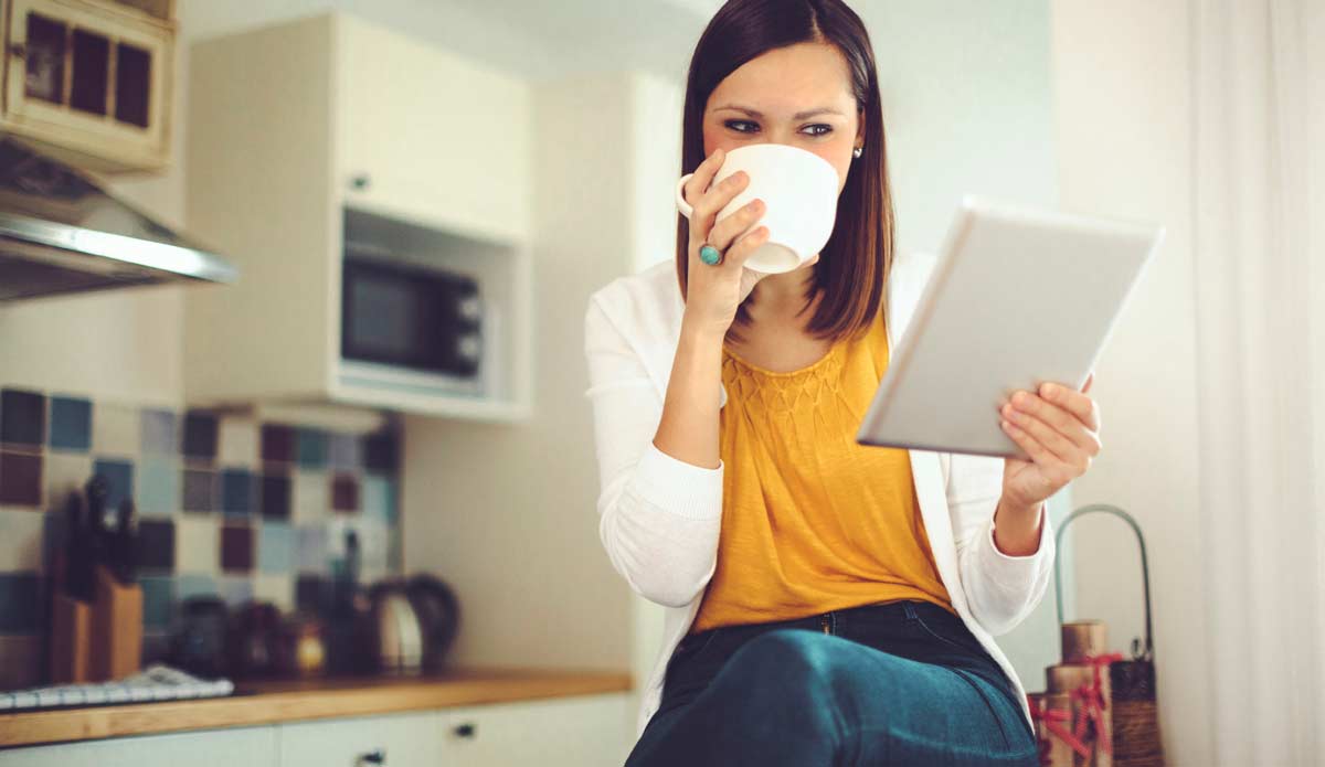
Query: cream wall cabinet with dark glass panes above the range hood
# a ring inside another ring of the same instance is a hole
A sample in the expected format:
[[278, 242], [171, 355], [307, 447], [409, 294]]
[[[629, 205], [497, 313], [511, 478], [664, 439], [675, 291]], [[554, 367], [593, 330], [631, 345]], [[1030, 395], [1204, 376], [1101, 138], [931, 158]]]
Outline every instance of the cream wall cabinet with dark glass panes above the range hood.
[[97, 171], [166, 167], [175, 45], [168, 7], [8, 0], [4, 11], [0, 131]]

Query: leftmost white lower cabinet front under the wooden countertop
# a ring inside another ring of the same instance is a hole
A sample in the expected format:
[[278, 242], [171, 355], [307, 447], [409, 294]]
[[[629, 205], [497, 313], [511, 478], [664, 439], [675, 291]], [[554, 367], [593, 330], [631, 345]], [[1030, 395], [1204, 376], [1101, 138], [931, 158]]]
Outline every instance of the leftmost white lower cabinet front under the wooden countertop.
[[278, 767], [276, 727], [143, 735], [0, 751], [0, 767]]

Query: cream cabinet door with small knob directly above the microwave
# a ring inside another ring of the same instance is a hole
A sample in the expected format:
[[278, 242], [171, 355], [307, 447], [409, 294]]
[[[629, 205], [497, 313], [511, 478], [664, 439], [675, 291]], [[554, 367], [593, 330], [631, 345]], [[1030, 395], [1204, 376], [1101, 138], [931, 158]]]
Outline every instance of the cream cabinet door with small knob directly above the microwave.
[[341, 17], [339, 185], [346, 203], [500, 240], [529, 233], [527, 83]]

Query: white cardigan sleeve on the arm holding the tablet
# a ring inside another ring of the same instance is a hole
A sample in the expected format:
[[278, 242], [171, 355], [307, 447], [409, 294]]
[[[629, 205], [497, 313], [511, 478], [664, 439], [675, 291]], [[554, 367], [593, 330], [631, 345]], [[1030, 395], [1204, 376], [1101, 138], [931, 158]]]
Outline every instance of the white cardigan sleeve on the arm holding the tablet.
[[1034, 554], [1008, 556], [994, 544], [994, 510], [1003, 494], [1003, 458], [953, 453], [947, 509], [957, 562], [971, 615], [991, 635], [1016, 628], [1044, 597], [1053, 572], [1048, 506], [1040, 505], [1040, 543]]

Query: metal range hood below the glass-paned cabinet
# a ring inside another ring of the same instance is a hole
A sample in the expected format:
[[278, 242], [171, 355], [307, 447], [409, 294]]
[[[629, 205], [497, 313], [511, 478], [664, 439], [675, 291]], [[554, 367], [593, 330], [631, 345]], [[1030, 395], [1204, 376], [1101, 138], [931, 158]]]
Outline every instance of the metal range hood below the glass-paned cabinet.
[[224, 258], [114, 197], [87, 174], [0, 136], [0, 302], [237, 278]]

